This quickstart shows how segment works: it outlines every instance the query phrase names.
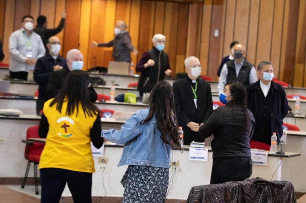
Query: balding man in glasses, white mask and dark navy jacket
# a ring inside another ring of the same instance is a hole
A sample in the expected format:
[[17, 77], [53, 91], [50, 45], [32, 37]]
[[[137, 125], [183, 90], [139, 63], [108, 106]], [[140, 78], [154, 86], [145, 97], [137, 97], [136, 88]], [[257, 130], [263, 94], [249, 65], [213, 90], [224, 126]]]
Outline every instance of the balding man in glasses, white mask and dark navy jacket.
[[47, 98], [47, 85], [51, 73], [53, 71], [62, 70], [67, 67], [66, 59], [60, 54], [61, 41], [58, 37], [50, 37], [47, 41], [48, 52], [45, 56], [39, 58], [34, 69], [34, 80], [39, 84], [38, 87], [38, 100], [36, 101], [36, 113], [43, 109], [43, 104], [48, 100]]

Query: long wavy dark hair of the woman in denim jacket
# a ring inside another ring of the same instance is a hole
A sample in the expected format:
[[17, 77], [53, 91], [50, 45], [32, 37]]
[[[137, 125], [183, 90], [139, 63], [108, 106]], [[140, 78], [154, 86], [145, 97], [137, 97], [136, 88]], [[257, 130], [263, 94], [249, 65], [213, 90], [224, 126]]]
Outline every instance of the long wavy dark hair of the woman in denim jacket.
[[162, 141], [171, 145], [171, 140], [167, 136], [170, 135], [177, 148], [182, 150], [175, 116], [173, 89], [168, 82], [163, 80], [155, 84], [148, 100], [148, 106], [150, 108], [149, 114], [140, 124], [148, 123], [155, 114]]

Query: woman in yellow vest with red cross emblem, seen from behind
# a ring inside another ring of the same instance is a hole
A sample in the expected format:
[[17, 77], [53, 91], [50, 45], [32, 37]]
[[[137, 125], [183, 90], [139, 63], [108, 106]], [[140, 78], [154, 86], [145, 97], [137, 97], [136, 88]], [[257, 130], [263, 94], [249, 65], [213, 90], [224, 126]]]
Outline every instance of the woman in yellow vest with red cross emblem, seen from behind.
[[73, 201], [91, 202], [95, 172], [90, 142], [103, 145], [100, 110], [89, 101], [87, 72], [71, 71], [58, 95], [43, 107], [39, 136], [47, 137], [40, 156], [41, 202], [59, 202], [66, 182]]

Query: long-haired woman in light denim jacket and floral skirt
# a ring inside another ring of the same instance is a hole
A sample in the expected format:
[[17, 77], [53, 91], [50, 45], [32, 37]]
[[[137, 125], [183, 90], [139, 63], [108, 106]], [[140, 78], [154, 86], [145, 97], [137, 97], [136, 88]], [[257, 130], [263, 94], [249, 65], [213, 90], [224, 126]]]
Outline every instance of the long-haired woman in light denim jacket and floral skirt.
[[158, 82], [148, 105], [136, 111], [121, 130], [101, 133], [106, 140], [124, 144], [118, 166], [129, 167], [121, 180], [122, 202], [165, 202], [172, 142], [182, 150], [171, 85]]

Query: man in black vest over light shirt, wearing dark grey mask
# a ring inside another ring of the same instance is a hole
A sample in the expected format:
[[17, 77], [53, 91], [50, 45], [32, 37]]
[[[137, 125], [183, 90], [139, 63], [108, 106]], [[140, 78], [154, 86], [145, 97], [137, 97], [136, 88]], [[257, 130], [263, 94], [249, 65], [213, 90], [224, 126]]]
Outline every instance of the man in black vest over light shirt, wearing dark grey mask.
[[257, 81], [254, 65], [243, 57], [245, 54], [244, 46], [241, 44], [235, 45], [232, 48], [232, 54], [235, 59], [226, 62], [221, 70], [218, 83], [219, 94], [221, 94], [227, 82], [239, 81], [247, 87]]

